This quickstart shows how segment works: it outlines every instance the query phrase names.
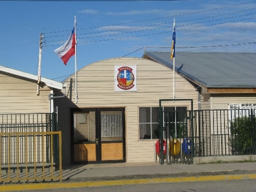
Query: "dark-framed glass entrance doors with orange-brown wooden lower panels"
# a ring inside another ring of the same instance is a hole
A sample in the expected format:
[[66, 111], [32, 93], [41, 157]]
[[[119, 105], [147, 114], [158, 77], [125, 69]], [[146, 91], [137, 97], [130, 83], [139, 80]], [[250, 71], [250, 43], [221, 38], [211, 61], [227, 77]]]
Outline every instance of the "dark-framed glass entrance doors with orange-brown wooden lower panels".
[[72, 108], [71, 163], [125, 162], [124, 107]]

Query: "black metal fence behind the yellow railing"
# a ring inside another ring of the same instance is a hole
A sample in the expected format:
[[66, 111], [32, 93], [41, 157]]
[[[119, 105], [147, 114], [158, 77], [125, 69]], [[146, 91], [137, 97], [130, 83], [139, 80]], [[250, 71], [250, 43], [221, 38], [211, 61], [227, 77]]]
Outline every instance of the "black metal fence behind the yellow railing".
[[[57, 131], [56, 113], [0, 114], [0, 133], [50, 131]], [[56, 144], [57, 140], [55, 141], [55, 138], [53, 139], [53, 143]], [[24, 146], [24, 142], [27, 142], [25, 143], [27, 147], [22, 147]], [[19, 148], [16, 147], [17, 145]], [[50, 162], [49, 134], [20, 135], [19, 138], [15, 135], [7, 136], [7, 134], [1, 134], [0, 148], [1, 164]], [[17, 154], [19, 154], [19, 157], [17, 157]], [[58, 155], [53, 155], [57, 162]], [[24, 156], [26, 156], [27, 159], [24, 158]]]

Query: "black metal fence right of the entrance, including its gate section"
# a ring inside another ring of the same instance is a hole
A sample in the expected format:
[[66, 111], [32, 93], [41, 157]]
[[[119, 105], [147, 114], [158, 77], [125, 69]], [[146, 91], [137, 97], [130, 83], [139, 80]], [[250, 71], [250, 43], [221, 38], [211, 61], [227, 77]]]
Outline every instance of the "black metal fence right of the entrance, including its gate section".
[[[256, 108], [159, 110], [160, 162], [256, 154]], [[165, 150], [164, 150], [165, 149]], [[164, 155], [164, 156], [163, 156]]]

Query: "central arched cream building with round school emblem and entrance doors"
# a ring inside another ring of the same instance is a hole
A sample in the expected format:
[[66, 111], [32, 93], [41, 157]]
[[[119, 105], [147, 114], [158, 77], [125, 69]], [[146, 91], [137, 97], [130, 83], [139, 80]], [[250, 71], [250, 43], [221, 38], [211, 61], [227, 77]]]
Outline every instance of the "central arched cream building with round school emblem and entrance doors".
[[[173, 71], [143, 58], [111, 58], [91, 63], [67, 78], [66, 97], [56, 99], [62, 130], [63, 163], [153, 161], [159, 99], [172, 98]], [[176, 98], [197, 90], [175, 75]], [[190, 102], [163, 106], [189, 109]]]

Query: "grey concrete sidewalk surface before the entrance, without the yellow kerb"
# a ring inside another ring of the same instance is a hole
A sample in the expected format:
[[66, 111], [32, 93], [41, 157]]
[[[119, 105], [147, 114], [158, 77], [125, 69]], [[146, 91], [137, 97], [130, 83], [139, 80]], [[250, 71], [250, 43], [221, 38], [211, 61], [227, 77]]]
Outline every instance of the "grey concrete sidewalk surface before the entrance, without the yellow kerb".
[[[76, 170], [75, 174], [71, 172]], [[127, 176], [141, 174], [197, 173], [218, 171], [256, 170], [256, 162], [207, 163], [207, 164], [159, 164], [159, 162], [88, 164], [72, 167], [62, 172], [63, 179]], [[71, 172], [69, 172], [71, 171]], [[256, 173], [256, 171], [255, 171]]]

